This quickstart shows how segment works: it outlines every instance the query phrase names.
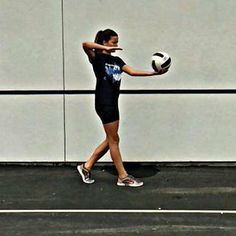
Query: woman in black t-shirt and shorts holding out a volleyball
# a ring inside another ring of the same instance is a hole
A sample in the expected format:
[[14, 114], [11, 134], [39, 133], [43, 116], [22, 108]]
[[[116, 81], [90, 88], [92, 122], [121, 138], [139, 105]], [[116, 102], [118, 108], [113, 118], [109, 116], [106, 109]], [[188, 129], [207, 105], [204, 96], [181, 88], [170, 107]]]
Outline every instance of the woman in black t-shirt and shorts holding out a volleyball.
[[143, 182], [128, 175], [126, 172], [119, 149], [119, 109], [118, 98], [120, 92], [121, 73], [125, 72], [131, 76], [154, 76], [163, 74], [157, 72], [147, 72], [134, 70], [121, 58], [112, 56], [118, 47], [118, 35], [111, 29], [99, 31], [95, 37], [95, 42], [84, 42], [83, 49], [93, 66], [97, 78], [95, 91], [95, 109], [100, 117], [106, 139], [95, 149], [92, 156], [77, 169], [84, 183], [92, 184], [91, 170], [94, 164], [110, 150], [111, 158], [118, 172], [118, 186], [139, 187]]

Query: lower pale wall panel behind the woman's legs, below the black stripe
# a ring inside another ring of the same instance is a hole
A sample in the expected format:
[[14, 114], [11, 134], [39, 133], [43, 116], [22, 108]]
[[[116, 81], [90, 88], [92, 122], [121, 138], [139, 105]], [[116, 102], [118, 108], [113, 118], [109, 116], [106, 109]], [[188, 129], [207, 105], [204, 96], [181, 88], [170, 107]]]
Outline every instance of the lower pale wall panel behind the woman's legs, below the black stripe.
[[[234, 95], [122, 95], [120, 103], [125, 161], [236, 161]], [[66, 107], [67, 161], [84, 161], [103, 128], [92, 97], [67, 96]]]

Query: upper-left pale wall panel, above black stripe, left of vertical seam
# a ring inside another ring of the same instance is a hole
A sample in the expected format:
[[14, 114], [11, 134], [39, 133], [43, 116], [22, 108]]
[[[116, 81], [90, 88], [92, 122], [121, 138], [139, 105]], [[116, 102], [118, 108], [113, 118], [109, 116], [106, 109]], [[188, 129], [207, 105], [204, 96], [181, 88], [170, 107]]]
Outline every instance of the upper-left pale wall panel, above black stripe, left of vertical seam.
[[60, 0], [0, 1], [0, 90], [62, 89]]

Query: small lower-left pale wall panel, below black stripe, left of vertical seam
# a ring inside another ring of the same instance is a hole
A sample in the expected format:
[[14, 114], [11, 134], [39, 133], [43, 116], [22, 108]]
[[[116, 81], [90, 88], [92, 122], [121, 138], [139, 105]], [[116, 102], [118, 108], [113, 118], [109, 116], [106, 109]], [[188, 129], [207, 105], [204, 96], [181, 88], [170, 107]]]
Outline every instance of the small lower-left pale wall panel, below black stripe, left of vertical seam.
[[0, 161], [64, 161], [62, 96], [0, 96]]

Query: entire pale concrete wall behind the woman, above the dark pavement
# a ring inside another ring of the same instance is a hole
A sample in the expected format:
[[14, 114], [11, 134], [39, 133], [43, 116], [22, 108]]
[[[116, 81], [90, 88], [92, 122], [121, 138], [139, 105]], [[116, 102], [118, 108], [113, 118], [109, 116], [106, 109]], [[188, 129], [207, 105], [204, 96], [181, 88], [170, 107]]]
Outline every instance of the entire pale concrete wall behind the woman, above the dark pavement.
[[[166, 75], [123, 75], [122, 89], [236, 85], [234, 0], [0, 0], [0, 9], [0, 161], [83, 161], [102, 141], [93, 95], [61, 92], [94, 89], [81, 43], [100, 29], [118, 32], [118, 55], [134, 68], [151, 70], [159, 50], [172, 57]], [[33, 95], [12, 92], [22, 90]], [[235, 94], [120, 99], [124, 160], [236, 160]]]

